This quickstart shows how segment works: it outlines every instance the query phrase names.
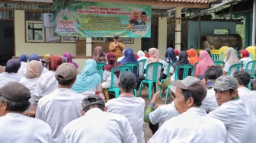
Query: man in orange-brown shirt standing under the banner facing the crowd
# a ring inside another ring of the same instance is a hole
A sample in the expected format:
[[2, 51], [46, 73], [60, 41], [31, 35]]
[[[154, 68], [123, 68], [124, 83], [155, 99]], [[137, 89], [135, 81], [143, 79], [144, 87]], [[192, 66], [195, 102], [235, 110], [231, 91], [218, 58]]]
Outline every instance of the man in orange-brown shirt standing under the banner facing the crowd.
[[116, 59], [120, 58], [123, 56], [122, 51], [123, 51], [124, 46], [123, 43], [119, 42], [119, 35], [114, 35], [114, 42], [110, 43], [109, 50], [110, 52], [114, 52], [116, 54]]

